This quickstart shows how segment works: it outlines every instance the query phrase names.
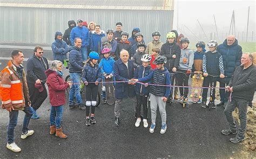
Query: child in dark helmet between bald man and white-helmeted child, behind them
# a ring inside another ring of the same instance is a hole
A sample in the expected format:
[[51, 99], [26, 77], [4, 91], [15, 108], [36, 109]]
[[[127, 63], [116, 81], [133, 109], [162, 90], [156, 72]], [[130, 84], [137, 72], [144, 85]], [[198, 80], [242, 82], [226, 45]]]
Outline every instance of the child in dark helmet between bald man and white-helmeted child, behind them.
[[145, 44], [144, 42], [138, 42], [137, 44], [137, 51], [136, 53], [133, 55], [132, 61], [133, 61], [133, 67], [134, 69], [136, 69], [138, 66], [142, 65], [142, 56], [145, 55]]

